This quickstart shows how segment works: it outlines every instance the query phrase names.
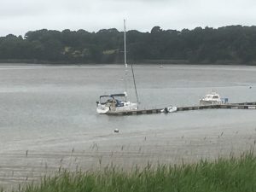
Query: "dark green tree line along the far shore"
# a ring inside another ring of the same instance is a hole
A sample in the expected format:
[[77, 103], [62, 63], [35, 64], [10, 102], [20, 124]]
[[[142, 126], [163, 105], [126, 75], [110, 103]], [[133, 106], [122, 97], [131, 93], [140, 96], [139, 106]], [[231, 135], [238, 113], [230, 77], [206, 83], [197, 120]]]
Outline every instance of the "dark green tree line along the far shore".
[[[196, 27], [193, 30], [126, 33], [128, 62], [256, 64], [256, 26]], [[124, 32], [42, 29], [0, 38], [0, 61], [121, 63]]]

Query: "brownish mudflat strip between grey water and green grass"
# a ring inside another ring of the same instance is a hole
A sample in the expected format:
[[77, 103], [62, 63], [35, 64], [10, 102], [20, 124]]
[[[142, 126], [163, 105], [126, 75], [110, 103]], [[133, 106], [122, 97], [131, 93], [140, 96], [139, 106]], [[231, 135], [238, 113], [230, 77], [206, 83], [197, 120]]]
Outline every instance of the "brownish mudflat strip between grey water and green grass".
[[[67, 140], [70, 141], [70, 140]], [[9, 150], [0, 154], [0, 182], [12, 189], [18, 183], [38, 180], [59, 168], [90, 170], [113, 164], [125, 169], [152, 164], [214, 160], [254, 150], [256, 125], [236, 128], [192, 127], [189, 129], [109, 133], [86, 139], [78, 135], [72, 143], [38, 145], [32, 150]], [[70, 150], [67, 151], [67, 148]]]

